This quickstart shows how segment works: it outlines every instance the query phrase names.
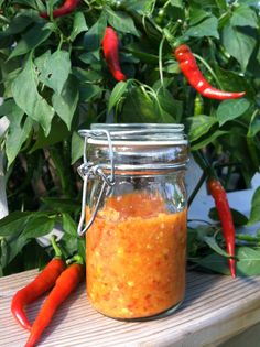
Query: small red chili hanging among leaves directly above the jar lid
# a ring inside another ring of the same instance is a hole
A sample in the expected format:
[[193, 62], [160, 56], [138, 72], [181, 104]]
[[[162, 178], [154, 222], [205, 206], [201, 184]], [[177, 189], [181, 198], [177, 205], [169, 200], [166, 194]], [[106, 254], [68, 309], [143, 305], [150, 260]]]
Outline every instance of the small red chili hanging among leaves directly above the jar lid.
[[112, 28], [107, 28], [102, 39], [102, 51], [105, 59], [110, 73], [117, 80], [126, 80], [126, 76], [121, 72], [118, 55], [119, 40]]

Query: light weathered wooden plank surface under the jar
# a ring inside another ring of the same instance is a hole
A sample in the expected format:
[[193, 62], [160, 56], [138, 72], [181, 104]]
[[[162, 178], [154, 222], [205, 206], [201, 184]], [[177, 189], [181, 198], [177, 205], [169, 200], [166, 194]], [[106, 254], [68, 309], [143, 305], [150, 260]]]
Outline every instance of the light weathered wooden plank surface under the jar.
[[[0, 346], [24, 346], [28, 332], [17, 325], [10, 302], [36, 271], [0, 279]], [[44, 300], [28, 307], [33, 321]], [[85, 285], [61, 306], [39, 346], [45, 347], [203, 347], [218, 343], [260, 322], [260, 276], [239, 278], [188, 272], [183, 305], [166, 318], [118, 322], [89, 305]]]

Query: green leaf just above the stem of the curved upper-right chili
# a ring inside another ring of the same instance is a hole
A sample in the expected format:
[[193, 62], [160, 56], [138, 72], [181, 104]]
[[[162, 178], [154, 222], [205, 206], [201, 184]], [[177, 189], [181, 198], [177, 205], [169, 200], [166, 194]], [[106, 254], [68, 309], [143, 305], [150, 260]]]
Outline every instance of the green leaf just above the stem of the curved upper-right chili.
[[184, 35], [191, 37], [213, 36], [219, 39], [218, 20], [215, 17], [207, 18], [197, 25], [188, 28]]

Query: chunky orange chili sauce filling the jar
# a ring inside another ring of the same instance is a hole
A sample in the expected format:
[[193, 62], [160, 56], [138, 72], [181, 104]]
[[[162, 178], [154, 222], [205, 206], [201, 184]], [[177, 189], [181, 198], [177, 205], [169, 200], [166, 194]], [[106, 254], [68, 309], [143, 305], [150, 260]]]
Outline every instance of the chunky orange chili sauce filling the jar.
[[186, 209], [170, 214], [145, 192], [110, 197], [86, 235], [86, 259], [87, 294], [102, 314], [133, 319], [174, 307], [185, 291]]

